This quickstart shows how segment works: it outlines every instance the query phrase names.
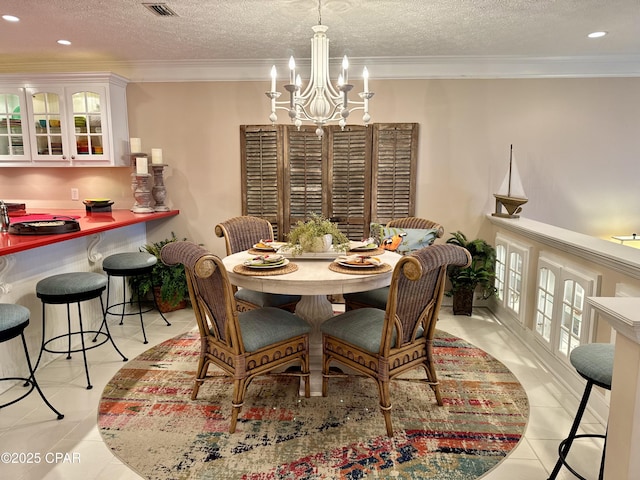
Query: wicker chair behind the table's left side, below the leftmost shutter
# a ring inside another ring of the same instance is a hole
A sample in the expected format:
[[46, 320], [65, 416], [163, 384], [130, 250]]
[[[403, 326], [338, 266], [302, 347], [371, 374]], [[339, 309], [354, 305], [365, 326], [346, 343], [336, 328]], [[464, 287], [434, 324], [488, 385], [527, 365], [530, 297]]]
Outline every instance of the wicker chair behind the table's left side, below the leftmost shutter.
[[[227, 255], [249, 250], [260, 240], [273, 240], [273, 227], [264, 218], [248, 215], [233, 217], [220, 222], [215, 228], [216, 235], [224, 238]], [[300, 301], [299, 295], [282, 295], [238, 289], [234, 286], [234, 295], [241, 312], [262, 307], [277, 307], [293, 312]]]

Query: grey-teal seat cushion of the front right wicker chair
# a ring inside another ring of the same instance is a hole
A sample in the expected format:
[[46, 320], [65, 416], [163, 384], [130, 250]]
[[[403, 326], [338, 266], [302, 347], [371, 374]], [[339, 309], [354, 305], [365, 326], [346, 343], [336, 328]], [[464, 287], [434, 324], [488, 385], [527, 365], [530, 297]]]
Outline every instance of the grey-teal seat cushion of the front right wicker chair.
[[[378, 308], [349, 310], [324, 322], [320, 325], [320, 331], [349, 342], [367, 352], [378, 353], [382, 341], [384, 316], [385, 311]], [[423, 332], [424, 329], [420, 327], [416, 338], [420, 337]], [[397, 333], [394, 330], [391, 337], [392, 344], [395, 342], [396, 336]]]

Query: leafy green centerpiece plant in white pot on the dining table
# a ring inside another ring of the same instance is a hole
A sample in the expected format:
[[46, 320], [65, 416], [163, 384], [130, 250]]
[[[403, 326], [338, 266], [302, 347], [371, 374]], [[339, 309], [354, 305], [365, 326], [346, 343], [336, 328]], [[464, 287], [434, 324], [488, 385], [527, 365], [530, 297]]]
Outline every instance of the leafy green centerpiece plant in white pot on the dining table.
[[306, 222], [298, 221], [287, 235], [287, 249], [294, 255], [302, 252], [326, 252], [333, 245], [336, 251], [346, 252], [349, 239], [335, 223], [311, 214]]

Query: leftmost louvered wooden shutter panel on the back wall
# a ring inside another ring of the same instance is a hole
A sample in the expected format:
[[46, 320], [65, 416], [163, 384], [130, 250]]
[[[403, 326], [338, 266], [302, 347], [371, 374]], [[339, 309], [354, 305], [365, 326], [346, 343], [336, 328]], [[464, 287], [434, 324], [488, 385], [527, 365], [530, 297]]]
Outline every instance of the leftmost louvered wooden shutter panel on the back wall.
[[242, 214], [261, 217], [281, 239], [282, 128], [240, 127]]

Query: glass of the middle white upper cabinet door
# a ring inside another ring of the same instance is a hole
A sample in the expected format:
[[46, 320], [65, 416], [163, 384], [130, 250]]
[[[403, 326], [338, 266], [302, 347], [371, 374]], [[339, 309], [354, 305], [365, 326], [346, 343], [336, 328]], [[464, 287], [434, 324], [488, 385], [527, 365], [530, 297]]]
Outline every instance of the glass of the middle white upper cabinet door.
[[64, 154], [60, 126], [62, 121], [60, 103], [60, 95], [57, 93], [39, 92], [32, 95], [38, 155], [62, 156]]

